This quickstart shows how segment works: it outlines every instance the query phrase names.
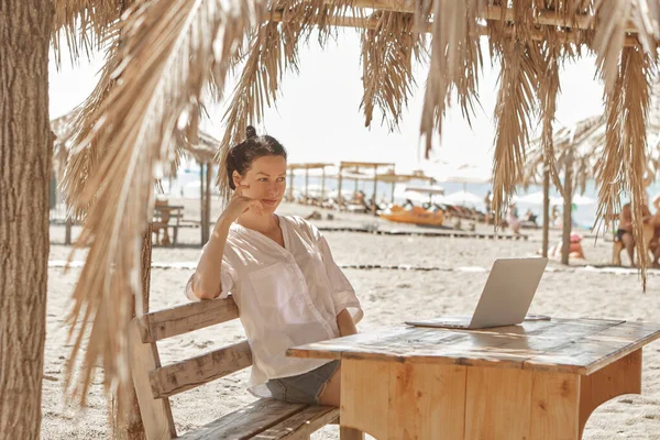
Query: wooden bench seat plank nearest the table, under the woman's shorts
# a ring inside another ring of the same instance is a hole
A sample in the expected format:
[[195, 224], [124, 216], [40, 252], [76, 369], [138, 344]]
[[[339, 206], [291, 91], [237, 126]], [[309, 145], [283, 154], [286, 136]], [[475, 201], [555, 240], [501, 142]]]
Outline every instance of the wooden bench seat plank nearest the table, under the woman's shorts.
[[257, 440], [294, 440], [309, 438], [339, 417], [339, 408], [331, 406], [308, 406], [300, 413], [294, 414], [286, 420], [260, 432]]

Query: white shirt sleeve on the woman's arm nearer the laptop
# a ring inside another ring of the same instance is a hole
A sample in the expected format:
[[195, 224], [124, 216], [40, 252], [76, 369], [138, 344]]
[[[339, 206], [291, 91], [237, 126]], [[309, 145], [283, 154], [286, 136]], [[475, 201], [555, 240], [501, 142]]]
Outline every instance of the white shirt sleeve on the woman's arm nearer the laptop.
[[337, 265], [330, 252], [330, 246], [326, 241], [326, 238], [315, 230], [317, 237], [317, 245], [321, 252], [323, 258], [323, 265], [328, 273], [328, 279], [330, 280], [330, 293], [332, 296], [332, 302], [334, 304], [336, 315], [339, 315], [343, 309], [348, 309], [349, 314], [353, 318], [353, 322], [358, 323], [364, 316], [360, 300], [355, 295], [355, 290], [349, 282], [349, 278], [344, 275], [342, 270]]

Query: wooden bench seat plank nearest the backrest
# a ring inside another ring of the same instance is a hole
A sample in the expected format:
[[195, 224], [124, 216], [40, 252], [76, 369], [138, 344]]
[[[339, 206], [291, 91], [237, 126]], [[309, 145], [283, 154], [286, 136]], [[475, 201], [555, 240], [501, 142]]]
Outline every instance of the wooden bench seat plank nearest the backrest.
[[285, 404], [274, 399], [260, 399], [227, 416], [220, 417], [179, 437], [180, 440], [243, 440], [279, 424], [304, 410], [307, 405]]

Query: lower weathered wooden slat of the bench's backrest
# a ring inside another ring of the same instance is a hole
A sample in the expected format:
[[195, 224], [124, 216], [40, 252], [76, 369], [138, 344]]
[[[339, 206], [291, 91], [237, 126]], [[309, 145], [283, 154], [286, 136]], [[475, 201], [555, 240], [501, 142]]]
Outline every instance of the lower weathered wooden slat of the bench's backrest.
[[148, 374], [154, 398], [169, 397], [252, 365], [248, 341], [190, 358]]

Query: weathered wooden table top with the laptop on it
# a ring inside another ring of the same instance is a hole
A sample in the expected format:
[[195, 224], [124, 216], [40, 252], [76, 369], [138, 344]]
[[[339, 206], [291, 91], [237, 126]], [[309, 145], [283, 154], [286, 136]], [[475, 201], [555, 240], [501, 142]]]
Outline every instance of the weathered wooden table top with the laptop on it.
[[660, 338], [660, 324], [552, 319], [460, 330], [396, 327], [289, 349], [297, 358], [370, 359], [591, 374]]

